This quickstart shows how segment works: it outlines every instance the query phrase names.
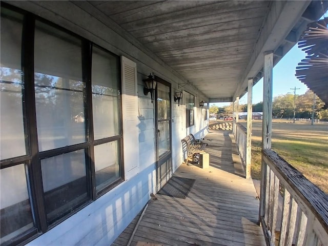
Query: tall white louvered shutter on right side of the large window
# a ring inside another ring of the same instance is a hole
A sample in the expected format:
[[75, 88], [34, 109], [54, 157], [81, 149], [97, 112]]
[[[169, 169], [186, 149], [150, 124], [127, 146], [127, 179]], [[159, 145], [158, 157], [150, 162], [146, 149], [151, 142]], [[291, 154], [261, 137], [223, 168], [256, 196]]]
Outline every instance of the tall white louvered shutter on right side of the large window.
[[139, 172], [137, 65], [121, 56], [125, 179]]

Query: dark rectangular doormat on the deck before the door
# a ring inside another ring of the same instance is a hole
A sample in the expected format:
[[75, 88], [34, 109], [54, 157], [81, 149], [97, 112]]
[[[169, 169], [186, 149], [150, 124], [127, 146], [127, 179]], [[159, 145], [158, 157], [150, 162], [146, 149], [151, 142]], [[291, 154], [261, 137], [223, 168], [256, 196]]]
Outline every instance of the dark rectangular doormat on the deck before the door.
[[173, 176], [157, 194], [186, 199], [195, 179]]

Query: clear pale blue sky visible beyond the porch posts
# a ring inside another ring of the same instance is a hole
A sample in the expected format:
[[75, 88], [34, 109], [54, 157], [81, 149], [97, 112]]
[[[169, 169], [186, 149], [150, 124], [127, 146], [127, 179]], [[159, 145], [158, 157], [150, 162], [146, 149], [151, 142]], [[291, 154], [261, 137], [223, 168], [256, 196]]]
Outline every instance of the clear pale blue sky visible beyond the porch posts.
[[[294, 89], [291, 88], [299, 88], [296, 90], [297, 95], [304, 94], [308, 87], [301, 83], [295, 76], [295, 70], [298, 66], [298, 63], [304, 59], [306, 53], [298, 48], [297, 44], [287, 53], [284, 57], [280, 59], [278, 64], [273, 68], [273, 98], [278, 95], [283, 95], [286, 93], [294, 94]], [[255, 86], [253, 86], [253, 104], [260, 103], [263, 101], [263, 78], [261, 78]], [[244, 94], [239, 99], [239, 104], [247, 104], [247, 93]], [[210, 106], [213, 104], [210, 104]], [[223, 107], [230, 105], [230, 103], [215, 103], [218, 107]]]

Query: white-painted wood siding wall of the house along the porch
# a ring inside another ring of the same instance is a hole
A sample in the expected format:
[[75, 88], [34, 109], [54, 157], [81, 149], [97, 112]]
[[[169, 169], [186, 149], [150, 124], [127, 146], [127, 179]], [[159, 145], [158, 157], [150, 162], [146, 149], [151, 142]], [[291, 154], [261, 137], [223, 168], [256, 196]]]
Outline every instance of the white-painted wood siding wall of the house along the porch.
[[[173, 100], [175, 92], [181, 91], [178, 89], [178, 83], [184, 81], [172, 73], [172, 69], [154, 54], [140, 47], [138, 42], [131, 39], [124, 30], [120, 30], [110, 19], [98, 13], [89, 3], [14, 1], [9, 4], [44, 17], [117, 55], [124, 55], [136, 63], [138, 173], [29, 243], [29, 245], [110, 245], [146, 205], [150, 193], [155, 193], [154, 104], [151, 103], [150, 95], [145, 96], [143, 93], [142, 79], [147, 78], [150, 72], [154, 72], [172, 84], [173, 171], [181, 165], [183, 160], [181, 138], [189, 133], [195, 134], [196, 137], [203, 137], [207, 134], [207, 121], [203, 120], [203, 112], [201, 113], [201, 108], [199, 108], [199, 101], [207, 101], [207, 98], [195, 91], [193, 87], [188, 85], [183, 87], [183, 90], [196, 96], [195, 125], [186, 128], [186, 106], [180, 101], [178, 107], [177, 101]], [[80, 8], [86, 7], [86, 5], [88, 13]], [[136, 157], [133, 156], [133, 158]]]

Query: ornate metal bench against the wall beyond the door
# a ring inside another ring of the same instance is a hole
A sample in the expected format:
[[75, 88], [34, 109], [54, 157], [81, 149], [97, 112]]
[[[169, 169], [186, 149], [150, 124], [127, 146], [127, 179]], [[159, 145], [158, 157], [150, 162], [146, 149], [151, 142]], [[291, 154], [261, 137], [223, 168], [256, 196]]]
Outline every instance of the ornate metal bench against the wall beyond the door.
[[208, 144], [202, 142], [202, 139], [196, 139], [193, 134], [189, 134], [187, 137], [182, 138], [182, 151], [187, 151], [186, 164], [188, 161], [199, 162], [199, 156], [201, 153], [206, 153], [204, 149]]

